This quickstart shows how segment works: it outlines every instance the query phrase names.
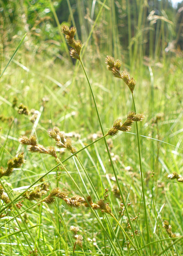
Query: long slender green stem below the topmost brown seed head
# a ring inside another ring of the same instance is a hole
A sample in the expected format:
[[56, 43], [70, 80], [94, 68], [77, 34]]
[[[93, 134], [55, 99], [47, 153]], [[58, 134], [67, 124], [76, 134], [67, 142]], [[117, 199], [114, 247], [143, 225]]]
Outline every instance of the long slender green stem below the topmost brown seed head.
[[[90, 87], [90, 91], [91, 91], [91, 93], [92, 93], [93, 102], [94, 102], [95, 109], [96, 109], [96, 112], [97, 112], [97, 116], [98, 116], [98, 119], [99, 119], [100, 128], [101, 128], [102, 134], [103, 134], [103, 136], [104, 136], [104, 129], [103, 129], [103, 126], [102, 126], [102, 123], [101, 123], [101, 120], [100, 120], [99, 111], [98, 111], [97, 103], [96, 103], [96, 100], [95, 100], [95, 97], [94, 97], [94, 94], [93, 94], [92, 86], [91, 86], [91, 84], [90, 84], [90, 81], [89, 81], [89, 78], [88, 78], [88, 76], [87, 76], [87, 73], [86, 73], [86, 70], [85, 70], [85, 68], [84, 68], [84, 65], [83, 65], [82, 60], [80, 60], [80, 62], [81, 62], [81, 66], [82, 66], [82, 68], [83, 68], [83, 70], [84, 70], [84, 74], [85, 74], [85, 76], [86, 76], [86, 79], [87, 79], [87, 81], [88, 81], [88, 84], [89, 84], [89, 87]], [[126, 210], [126, 215], [127, 215], [127, 217], [128, 217], [128, 221], [129, 221], [129, 224], [130, 224], [130, 226], [131, 226], [131, 230], [132, 230], [132, 233], [133, 233], [133, 237], [134, 237], [134, 239], [135, 239], [135, 243], [136, 243], [136, 245], [137, 245], [137, 248], [139, 248], [139, 244], [138, 244], [137, 238], [136, 238], [136, 236], [135, 236], [134, 228], [133, 228], [133, 225], [132, 225], [132, 223], [131, 223], [131, 219], [130, 219], [130, 215], [129, 215], [129, 212], [128, 212], [128, 209], [127, 209], [127, 205], [126, 205], [125, 200], [124, 200], [124, 196], [123, 196], [123, 193], [122, 193], [120, 184], [119, 184], [119, 180], [118, 180], [118, 178], [117, 178], [117, 174], [116, 174], [116, 171], [115, 171], [115, 167], [114, 167], [114, 164], [113, 164], [113, 161], [112, 161], [112, 158], [111, 158], [111, 155], [110, 155], [109, 148], [108, 148], [107, 141], [106, 141], [106, 138], [105, 138], [105, 137], [104, 137], [104, 142], [105, 142], [106, 149], [107, 149], [107, 153], [108, 153], [108, 156], [109, 156], [109, 159], [110, 159], [110, 163], [111, 163], [111, 166], [112, 166], [114, 175], [115, 175], [115, 179], [116, 179], [116, 182], [117, 182], [119, 191], [120, 191], [120, 195], [121, 195], [121, 197], [122, 197], [122, 201], [123, 201], [123, 204], [124, 204], [124, 208], [125, 208], [125, 210]]]

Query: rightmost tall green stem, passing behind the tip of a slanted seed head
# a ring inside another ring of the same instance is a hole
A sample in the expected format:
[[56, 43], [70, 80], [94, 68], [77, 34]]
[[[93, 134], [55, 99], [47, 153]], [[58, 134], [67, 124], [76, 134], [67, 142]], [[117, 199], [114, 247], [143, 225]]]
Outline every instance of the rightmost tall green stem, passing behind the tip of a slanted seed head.
[[[131, 93], [131, 94], [132, 94], [132, 99], [133, 99], [134, 111], [136, 113], [134, 95], [133, 95], [133, 93]], [[150, 243], [150, 234], [149, 234], [147, 210], [146, 210], [146, 198], [145, 198], [144, 180], [143, 180], [143, 172], [142, 172], [142, 160], [141, 160], [141, 154], [140, 154], [140, 140], [139, 140], [138, 122], [136, 122], [136, 130], [137, 130], [137, 141], [138, 141], [138, 149], [139, 149], [140, 177], [141, 177], [141, 183], [142, 183], [142, 194], [143, 194], [144, 212], [145, 212], [146, 228], [147, 228], [147, 243], [149, 244]], [[150, 244], [149, 244], [149, 251], [150, 251], [150, 255], [152, 256], [152, 250], [151, 250], [151, 245]]]

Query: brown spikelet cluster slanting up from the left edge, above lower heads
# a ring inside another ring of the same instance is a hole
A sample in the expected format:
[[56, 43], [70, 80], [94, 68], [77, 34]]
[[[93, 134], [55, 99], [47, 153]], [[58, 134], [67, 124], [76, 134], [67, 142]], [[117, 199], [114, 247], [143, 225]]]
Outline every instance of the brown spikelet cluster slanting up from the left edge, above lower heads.
[[24, 153], [21, 152], [18, 156], [15, 156], [8, 160], [7, 168], [4, 169], [3, 166], [0, 167], [0, 178], [3, 176], [10, 176], [14, 168], [20, 168], [26, 160], [24, 159]]

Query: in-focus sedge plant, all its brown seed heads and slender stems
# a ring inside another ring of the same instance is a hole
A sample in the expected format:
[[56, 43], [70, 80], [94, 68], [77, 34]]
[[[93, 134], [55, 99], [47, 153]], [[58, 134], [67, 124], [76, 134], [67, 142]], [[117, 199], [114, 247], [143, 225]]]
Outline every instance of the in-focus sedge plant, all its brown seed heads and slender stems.
[[[135, 251], [136, 255], [141, 256], [142, 252], [139, 249], [140, 246], [139, 246], [139, 242], [137, 239], [138, 230], [136, 229], [136, 222], [138, 220], [139, 212], [137, 212], [134, 217], [131, 217], [129, 214], [129, 207], [131, 206], [131, 202], [126, 202], [126, 200], [124, 198], [124, 195], [122, 193], [122, 188], [119, 183], [119, 179], [116, 174], [115, 166], [113, 164], [111, 154], [110, 154], [110, 151], [109, 151], [109, 148], [107, 145], [107, 140], [106, 140], [107, 136], [113, 137], [120, 131], [121, 132], [129, 132], [131, 130], [131, 126], [134, 124], [134, 122], [136, 122], [137, 139], [138, 139], [138, 147], [139, 147], [139, 163], [140, 163], [140, 173], [141, 173], [141, 182], [142, 182], [142, 193], [143, 193], [143, 198], [144, 198], [144, 208], [146, 209], [144, 188], [143, 188], [143, 174], [142, 174], [141, 155], [140, 155], [139, 132], [138, 132], [138, 125], [137, 125], [137, 123], [139, 121], [142, 121], [144, 119], [144, 115], [141, 113], [136, 113], [135, 101], [134, 101], [134, 95], [133, 95], [136, 81], [133, 78], [130, 78], [130, 75], [127, 72], [125, 72], [125, 71], [123, 71], [122, 73], [120, 72], [121, 62], [119, 60], [114, 60], [113, 57], [107, 56], [107, 58], [106, 58], [107, 69], [111, 71], [111, 73], [114, 77], [121, 78], [129, 87], [129, 89], [132, 93], [134, 110], [131, 110], [126, 114], [126, 116], [127, 116], [126, 120], [122, 121], [121, 118], [116, 119], [114, 121], [112, 127], [108, 130], [107, 133], [105, 133], [102, 123], [101, 123], [100, 116], [99, 116], [99, 111], [98, 111], [97, 103], [96, 103], [95, 96], [94, 96], [94, 93], [92, 90], [92, 85], [87, 76], [86, 70], [84, 68], [84, 64], [81, 60], [80, 53], [81, 53], [82, 46], [83, 46], [82, 42], [80, 40], [74, 39], [74, 36], [76, 34], [76, 28], [69, 29], [68, 26], [62, 25], [61, 30], [62, 30], [62, 33], [64, 33], [66, 36], [67, 43], [72, 47], [72, 49], [70, 50], [70, 55], [72, 56], [72, 58], [80, 61], [82, 68], [84, 70], [84, 74], [87, 78], [87, 81], [88, 81], [88, 84], [89, 84], [89, 87], [90, 87], [90, 90], [92, 93], [92, 98], [93, 98], [96, 113], [98, 116], [102, 136], [99, 139], [93, 141], [91, 144], [88, 144], [87, 146], [85, 146], [84, 148], [82, 148], [80, 150], [77, 150], [77, 148], [73, 145], [72, 140], [65, 133], [68, 131], [65, 131], [65, 132], [60, 131], [60, 129], [57, 126], [54, 126], [52, 129], [48, 130], [48, 136], [53, 139], [53, 143], [55, 143], [55, 145], [52, 144], [47, 148], [44, 145], [38, 143], [38, 138], [36, 137], [35, 134], [30, 134], [30, 136], [26, 136], [26, 135], [21, 136], [19, 138], [19, 142], [22, 145], [28, 146], [29, 152], [39, 153], [39, 154], [47, 154], [47, 155], [50, 155], [53, 158], [55, 158], [58, 162], [57, 166], [60, 165], [62, 167], [62, 169], [67, 173], [68, 177], [73, 182], [75, 189], [77, 188], [77, 191], [79, 191], [80, 194], [79, 195], [74, 194], [72, 196], [69, 196], [66, 191], [62, 190], [58, 186], [55, 186], [54, 188], [50, 189], [50, 184], [48, 182], [41, 182], [41, 184], [37, 185], [38, 182], [40, 182], [53, 169], [51, 169], [49, 172], [46, 172], [45, 175], [43, 175], [40, 179], [36, 180], [33, 184], [31, 184], [28, 188], [24, 189], [24, 191], [22, 193], [20, 193], [18, 196], [15, 196], [14, 198], [12, 197], [12, 193], [8, 192], [8, 190], [4, 186], [3, 182], [0, 181], [1, 182], [0, 196], [1, 196], [1, 200], [3, 200], [3, 202], [4, 202], [4, 206], [1, 208], [1, 213], [0, 213], [1, 217], [4, 217], [5, 215], [12, 214], [12, 218], [8, 221], [15, 220], [17, 222], [17, 224], [19, 222], [17, 220], [17, 218], [19, 217], [21, 219], [22, 223], [25, 225], [26, 232], [28, 232], [29, 236], [32, 239], [32, 242], [35, 244], [35, 248], [33, 250], [32, 246], [31, 246], [30, 242], [28, 241], [28, 238], [25, 234], [25, 230], [22, 230], [22, 228], [18, 224], [22, 234], [24, 235], [24, 237], [28, 243], [28, 246], [30, 247], [30, 250], [31, 250], [30, 255], [37, 255], [37, 253], [39, 253], [40, 255], [44, 255], [44, 253], [42, 253], [42, 251], [40, 249], [39, 244], [36, 243], [36, 239], [33, 237], [32, 233], [30, 232], [30, 228], [27, 226], [26, 221], [22, 218], [22, 215], [21, 215], [22, 212], [20, 212], [19, 210], [21, 210], [21, 206], [23, 204], [23, 201], [25, 201], [25, 200], [29, 200], [29, 201], [33, 201], [33, 202], [37, 201], [36, 203], [34, 202], [34, 204], [30, 207], [30, 208], [32, 208], [32, 207], [36, 207], [36, 205], [38, 205], [40, 203], [45, 203], [47, 205], [54, 204], [54, 203], [56, 203], [56, 198], [58, 198], [58, 199], [63, 200], [63, 202], [65, 203], [65, 207], [71, 207], [71, 208], [83, 207], [83, 208], [89, 208], [91, 210], [92, 214], [95, 216], [99, 225], [103, 229], [104, 236], [109, 241], [109, 244], [111, 246], [111, 250], [110, 250], [109, 254], [126, 255], [126, 253], [125, 253], [126, 251], [123, 251], [121, 241], [118, 238], [118, 235], [116, 233], [117, 228], [114, 229], [109, 220], [109, 217], [112, 217], [113, 220], [116, 222], [116, 227], [120, 228], [120, 230], [122, 231], [123, 237], [125, 238], [125, 242], [126, 242], [125, 247], [127, 248], [127, 253], [130, 254], [131, 250], [133, 250], [133, 251]], [[20, 112], [20, 109], [23, 109], [23, 107], [19, 108], [19, 110], [18, 110], [19, 112]], [[25, 111], [23, 111], [23, 112], [21, 111], [21, 114], [25, 115], [24, 112]], [[36, 118], [35, 118], [35, 120], [36, 120]], [[33, 122], [35, 122], [35, 120]], [[113, 169], [116, 183], [117, 183], [119, 193], [121, 196], [120, 197], [121, 202], [120, 202], [120, 206], [119, 206], [120, 211], [119, 211], [118, 217], [116, 217], [115, 214], [112, 212], [110, 204], [109, 204], [109, 202], [107, 202], [108, 201], [108, 189], [107, 188], [105, 189], [103, 198], [100, 199], [99, 191], [96, 191], [96, 189], [93, 185], [92, 179], [88, 175], [87, 170], [84, 168], [84, 164], [81, 162], [81, 160], [79, 158], [80, 152], [82, 152], [85, 148], [90, 147], [94, 143], [97, 143], [99, 140], [104, 140], [104, 143], [106, 145], [107, 154], [110, 159], [111, 167]], [[70, 152], [71, 155], [68, 156], [68, 158], [66, 158], [64, 160], [60, 160], [60, 158], [57, 156], [57, 149], [66, 149]], [[66, 162], [71, 157], [75, 157], [76, 161], [78, 161], [78, 163], [82, 166], [82, 168], [85, 172], [85, 175], [86, 175], [86, 180], [88, 181], [88, 184], [90, 184], [92, 193], [94, 193], [95, 198], [98, 198], [98, 200], [96, 200], [95, 202], [92, 199], [93, 196], [88, 192], [88, 189], [86, 187], [84, 187], [86, 190], [86, 192], [84, 193], [82, 191], [82, 188], [78, 186], [76, 180], [72, 177], [72, 175], [70, 174], [70, 172], [68, 172], [66, 166], [64, 165], [64, 162]], [[24, 158], [24, 154], [22, 152], [17, 157], [13, 157], [12, 159], [10, 159], [7, 162], [7, 168], [1, 167], [0, 178], [2, 178], [3, 176], [10, 176], [15, 168], [20, 168], [22, 166], [22, 164], [24, 164], [24, 163], [25, 163], [25, 158]], [[105, 222], [101, 221], [99, 214], [96, 210], [100, 210], [103, 213], [103, 215], [105, 215], [105, 218], [107, 220], [107, 225], [109, 226], [110, 232], [113, 235], [112, 238], [105, 226]], [[23, 212], [26, 212], [26, 210]], [[124, 216], [127, 220], [126, 227], [123, 227], [123, 225], [122, 225], [122, 220], [123, 220]], [[146, 211], [145, 211], [145, 216], [146, 216], [145, 218], [147, 221]], [[148, 221], [147, 221], [147, 230], [148, 230]], [[73, 246], [73, 253], [76, 250], [76, 244], [78, 244], [80, 246], [80, 248], [83, 250], [83, 248], [82, 248], [82, 240], [83, 239], [79, 235], [76, 236], [75, 238], [76, 238], [76, 242], [74, 243], [74, 246]], [[147, 232], [147, 241], [150, 243], [150, 237], [149, 237], [148, 232]], [[83, 251], [83, 253], [84, 253], [84, 251]], [[149, 253], [150, 253], [150, 255], [152, 255], [150, 246], [149, 246]]]

